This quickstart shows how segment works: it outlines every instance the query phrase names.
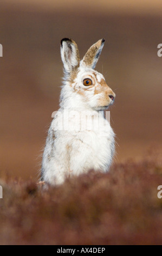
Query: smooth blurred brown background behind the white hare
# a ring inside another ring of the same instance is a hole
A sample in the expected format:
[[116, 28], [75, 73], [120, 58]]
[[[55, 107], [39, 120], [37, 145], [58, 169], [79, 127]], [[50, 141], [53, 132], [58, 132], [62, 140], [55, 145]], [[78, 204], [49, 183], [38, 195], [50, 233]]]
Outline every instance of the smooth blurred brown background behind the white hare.
[[115, 161], [140, 159], [151, 145], [162, 151], [161, 10], [155, 0], [1, 0], [1, 175], [37, 178], [51, 113], [59, 107], [64, 37], [77, 42], [82, 57], [106, 39], [96, 70], [116, 93]]

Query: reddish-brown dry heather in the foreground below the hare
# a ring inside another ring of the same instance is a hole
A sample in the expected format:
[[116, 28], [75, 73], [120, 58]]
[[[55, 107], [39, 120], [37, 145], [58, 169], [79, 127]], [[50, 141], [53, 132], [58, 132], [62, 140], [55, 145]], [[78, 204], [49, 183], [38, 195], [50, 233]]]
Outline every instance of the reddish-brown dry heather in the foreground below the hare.
[[89, 172], [44, 191], [32, 180], [1, 180], [0, 243], [159, 245], [161, 163], [153, 158]]

